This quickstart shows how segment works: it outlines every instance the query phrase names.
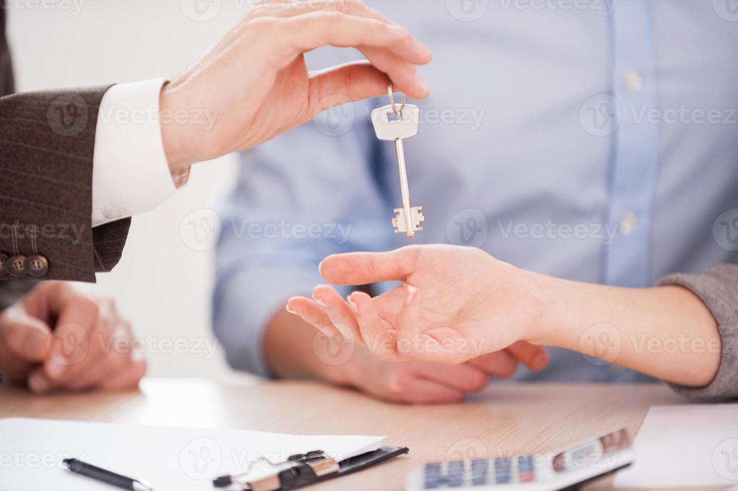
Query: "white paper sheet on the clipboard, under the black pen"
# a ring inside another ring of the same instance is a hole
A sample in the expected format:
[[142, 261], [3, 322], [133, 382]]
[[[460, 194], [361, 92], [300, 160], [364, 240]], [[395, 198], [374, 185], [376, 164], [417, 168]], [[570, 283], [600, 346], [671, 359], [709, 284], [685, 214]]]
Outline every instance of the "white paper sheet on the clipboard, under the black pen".
[[247, 430], [212, 430], [47, 419], [0, 419], [1, 491], [112, 491], [61, 464], [73, 457], [156, 491], [213, 490], [212, 479], [273, 473], [260, 457], [284, 461], [294, 453], [324, 450], [337, 460], [376, 450], [384, 436], [301, 436]]

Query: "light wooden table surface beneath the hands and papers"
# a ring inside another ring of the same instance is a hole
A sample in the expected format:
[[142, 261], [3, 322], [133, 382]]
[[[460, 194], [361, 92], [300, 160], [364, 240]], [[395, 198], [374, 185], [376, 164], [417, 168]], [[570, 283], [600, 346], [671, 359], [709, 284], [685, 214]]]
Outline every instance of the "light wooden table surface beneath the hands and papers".
[[[462, 404], [409, 406], [314, 382], [147, 379], [139, 391], [32, 396], [0, 386], [0, 417], [238, 428], [302, 434], [388, 435], [409, 456], [311, 489], [403, 490], [428, 460], [551, 452], [626, 427], [635, 437], [652, 405], [683, 403], [665, 385], [491, 385]], [[607, 488], [608, 482], [590, 488]]]

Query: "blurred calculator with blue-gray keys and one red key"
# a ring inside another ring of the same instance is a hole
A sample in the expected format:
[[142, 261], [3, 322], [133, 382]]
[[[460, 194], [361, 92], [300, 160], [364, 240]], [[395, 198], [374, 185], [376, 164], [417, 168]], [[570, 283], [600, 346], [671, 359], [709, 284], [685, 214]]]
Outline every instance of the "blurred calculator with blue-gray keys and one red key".
[[410, 473], [406, 490], [576, 489], [633, 461], [635, 450], [621, 428], [555, 453], [428, 462]]

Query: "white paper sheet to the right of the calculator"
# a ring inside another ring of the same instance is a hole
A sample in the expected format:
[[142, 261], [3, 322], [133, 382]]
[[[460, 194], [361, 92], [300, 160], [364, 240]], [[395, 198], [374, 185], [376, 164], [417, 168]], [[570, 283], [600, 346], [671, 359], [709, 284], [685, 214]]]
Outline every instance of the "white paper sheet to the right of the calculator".
[[738, 484], [738, 404], [655, 406], [634, 444], [635, 464], [615, 487]]

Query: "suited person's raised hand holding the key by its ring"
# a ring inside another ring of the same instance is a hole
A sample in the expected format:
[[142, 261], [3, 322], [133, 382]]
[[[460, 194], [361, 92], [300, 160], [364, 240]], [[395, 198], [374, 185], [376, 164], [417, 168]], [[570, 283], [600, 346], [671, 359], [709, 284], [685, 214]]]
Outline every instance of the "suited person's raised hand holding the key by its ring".
[[[354, 47], [365, 61], [308, 72], [303, 53]], [[388, 78], [416, 98], [429, 93], [416, 65], [430, 49], [360, 0], [262, 0], [195, 66], [162, 91], [162, 111], [210, 109], [212, 128], [162, 125], [170, 171], [259, 145], [348, 100], [384, 93]], [[337, 95], [343, 97], [335, 97]]]

